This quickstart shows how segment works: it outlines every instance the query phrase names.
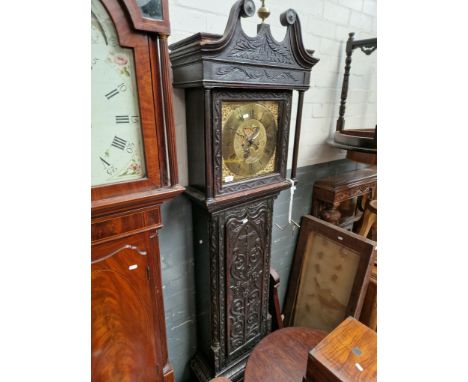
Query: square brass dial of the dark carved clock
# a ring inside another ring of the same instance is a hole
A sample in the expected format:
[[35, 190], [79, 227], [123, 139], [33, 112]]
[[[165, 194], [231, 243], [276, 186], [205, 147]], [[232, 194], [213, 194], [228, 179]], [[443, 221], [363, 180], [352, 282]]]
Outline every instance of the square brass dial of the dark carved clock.
[[278, 103], [224, 102], [222, 109], [223, 182], [274, 172]]

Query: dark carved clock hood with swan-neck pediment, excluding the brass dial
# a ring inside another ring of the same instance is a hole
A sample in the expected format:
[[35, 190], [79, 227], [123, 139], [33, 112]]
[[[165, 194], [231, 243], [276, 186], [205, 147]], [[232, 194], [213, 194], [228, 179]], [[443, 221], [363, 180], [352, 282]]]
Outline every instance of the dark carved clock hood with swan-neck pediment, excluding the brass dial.
[[[287, 27], [281, 42], [272, 36], [266, 23], [258, 25], [255, 37], [243, 31], [241, 18], [254, 14], [253, 1], [239, 0], [231, 9], [223, 35], [197, 33], [169, 46], [173, 85], [186, 89], [188, 143], [196, 145], [188, 150], [187, 193], [210, 210], [232, 204], [239, 197], [245, 200], [253, 194], [269, 194], [290, 187], [286, 163], [293, 90], [299, 91], [291, 172], [295, 180], [303, 95], [310, 87], [311, 69], [319, 60], [313, 57], [314, 51], [304, 47], [299, 17], [294, 10], [280, 16], [281, 24]], [[283, 101], [285, 115], [280, 120], [283, 126], [279, 126], [282, 132], [278, 138], [280, 163], [276, 174], [222, 187], [220, 99]]]

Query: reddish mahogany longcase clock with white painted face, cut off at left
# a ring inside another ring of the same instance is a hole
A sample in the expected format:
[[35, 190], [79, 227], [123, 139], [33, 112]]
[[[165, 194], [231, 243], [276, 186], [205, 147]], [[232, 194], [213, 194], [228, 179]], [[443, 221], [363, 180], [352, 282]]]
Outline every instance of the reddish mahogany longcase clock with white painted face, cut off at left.
[[167, 0], [91, 0], [94, 382], [173, 381], [158, 229], [178, 185]]

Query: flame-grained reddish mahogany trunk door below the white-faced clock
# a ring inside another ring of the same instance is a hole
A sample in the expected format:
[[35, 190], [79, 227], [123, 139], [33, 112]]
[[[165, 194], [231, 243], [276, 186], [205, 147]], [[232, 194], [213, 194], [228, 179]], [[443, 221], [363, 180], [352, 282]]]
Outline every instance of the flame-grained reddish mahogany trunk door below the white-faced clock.
[[162, 381], [146, 235], [93, 248], [92, 380]]

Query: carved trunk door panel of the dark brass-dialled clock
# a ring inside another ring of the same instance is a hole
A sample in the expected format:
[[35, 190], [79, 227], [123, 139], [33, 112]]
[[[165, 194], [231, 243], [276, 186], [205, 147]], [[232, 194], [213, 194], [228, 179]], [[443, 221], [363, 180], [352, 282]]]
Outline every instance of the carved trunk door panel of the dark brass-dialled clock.
[[238, 358], [267, 332], [271, 201], [226, 213], [226, 357]]

